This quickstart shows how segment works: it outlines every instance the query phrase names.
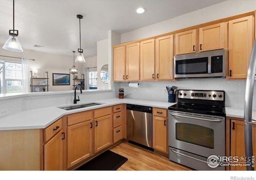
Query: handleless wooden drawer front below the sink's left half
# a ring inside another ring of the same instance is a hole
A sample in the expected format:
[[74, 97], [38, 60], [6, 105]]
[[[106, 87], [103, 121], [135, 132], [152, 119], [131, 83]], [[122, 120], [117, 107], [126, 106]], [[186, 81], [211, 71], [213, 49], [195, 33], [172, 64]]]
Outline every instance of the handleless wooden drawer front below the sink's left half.
[[92, 119], [92, 111], [78, 112], [68, 115], [68, 126]]

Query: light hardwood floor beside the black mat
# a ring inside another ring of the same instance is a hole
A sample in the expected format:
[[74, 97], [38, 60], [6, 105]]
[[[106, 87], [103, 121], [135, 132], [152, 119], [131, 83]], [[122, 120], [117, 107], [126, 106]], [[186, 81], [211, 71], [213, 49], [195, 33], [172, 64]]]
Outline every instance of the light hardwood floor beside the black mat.
[[168, 157], [141, 148], [127, 141], [113, 146], [111, 151], [128, 158], [118, 170], [192, 170], [172, 162]]

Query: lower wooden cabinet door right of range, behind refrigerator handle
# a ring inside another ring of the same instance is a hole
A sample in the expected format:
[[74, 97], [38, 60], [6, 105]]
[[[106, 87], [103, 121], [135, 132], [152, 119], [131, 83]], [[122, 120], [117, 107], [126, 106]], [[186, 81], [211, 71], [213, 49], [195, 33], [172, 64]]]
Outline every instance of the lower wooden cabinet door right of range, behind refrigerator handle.
[[[252, 127], [252, 148], [253, 155], [256, 156], [256, 126]], [[244, 121], [231, 120], [230, 136], [230, 156], [238, 156], [238, 158], [245, 158]], [[246, 170], [246, 166], [231, 166], [230, 170]]]

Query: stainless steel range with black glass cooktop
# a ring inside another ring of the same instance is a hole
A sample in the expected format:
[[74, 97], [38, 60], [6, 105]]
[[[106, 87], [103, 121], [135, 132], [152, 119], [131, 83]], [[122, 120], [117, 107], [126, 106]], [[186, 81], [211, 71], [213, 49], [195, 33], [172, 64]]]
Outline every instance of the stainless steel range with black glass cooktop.
[[195, 170], [211, 168], [207, 158], [225, 156], [225, 92], [179, 90], [169, 108], [169, 159]]

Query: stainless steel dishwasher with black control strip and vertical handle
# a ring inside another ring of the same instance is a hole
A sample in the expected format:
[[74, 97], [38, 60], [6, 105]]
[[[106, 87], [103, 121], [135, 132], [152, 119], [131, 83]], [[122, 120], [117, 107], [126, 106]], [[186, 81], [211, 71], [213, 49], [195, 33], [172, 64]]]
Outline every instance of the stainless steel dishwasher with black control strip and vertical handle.
[[127, 104], [127, 139], [152, 148], [152, 107]]

